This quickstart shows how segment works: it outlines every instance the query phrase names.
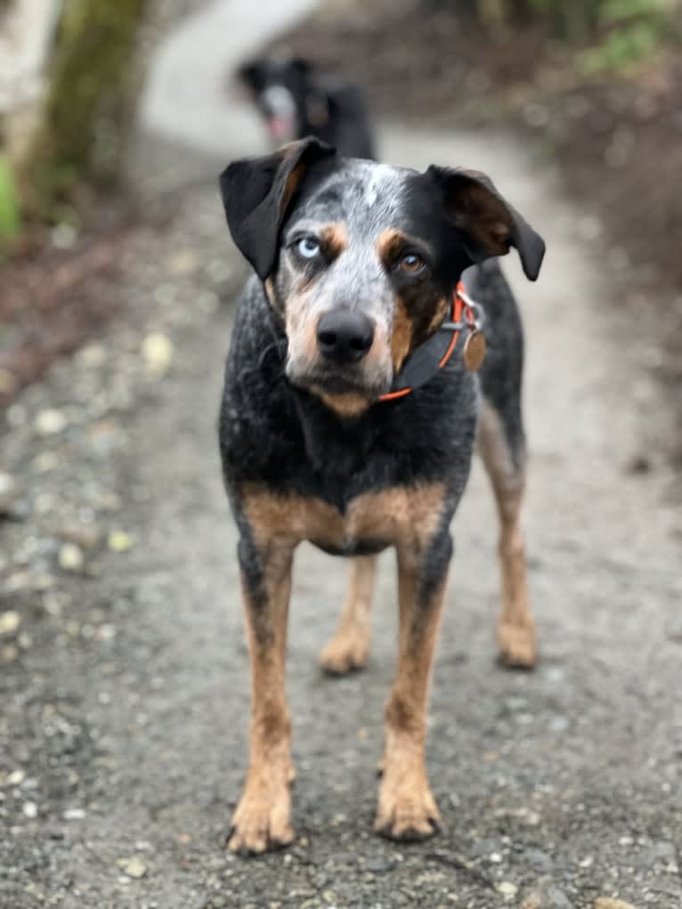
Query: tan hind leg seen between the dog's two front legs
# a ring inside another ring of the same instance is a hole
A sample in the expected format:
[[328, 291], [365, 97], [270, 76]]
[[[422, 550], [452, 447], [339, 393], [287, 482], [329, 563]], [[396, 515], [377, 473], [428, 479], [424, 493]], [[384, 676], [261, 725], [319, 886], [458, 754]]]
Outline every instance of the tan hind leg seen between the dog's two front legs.
[[320, 654], [320, 665], [326, 673], [344, 675], [366, 666], [375, 574], [376, 555], [357, 555], [351, 560], [341, 618], [334, 636]]

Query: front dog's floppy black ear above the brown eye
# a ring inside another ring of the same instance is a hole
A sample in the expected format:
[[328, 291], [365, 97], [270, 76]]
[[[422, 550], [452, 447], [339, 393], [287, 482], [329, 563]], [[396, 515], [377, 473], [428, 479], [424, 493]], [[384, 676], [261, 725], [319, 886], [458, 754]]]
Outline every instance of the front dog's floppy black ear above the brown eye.
[[472, 262], [518, 251], [525, 275], [537, 280], [545, 242], [517, 210], [497, 192], [493, 182], [478, 171], [431, 165], [426, 177], [436, 181], [445, 200], [446, 216], [465, 235]]

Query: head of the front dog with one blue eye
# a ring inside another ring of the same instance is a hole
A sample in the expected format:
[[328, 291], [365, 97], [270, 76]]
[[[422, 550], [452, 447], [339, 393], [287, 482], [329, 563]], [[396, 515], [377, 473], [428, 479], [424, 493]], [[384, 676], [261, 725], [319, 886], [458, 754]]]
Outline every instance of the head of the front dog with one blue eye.
[[389, 390], [468, 265], [514, 246], [535, 281], [545, 253], [476, 171], [419, 174], [306, 139], [236, 161], [220, 185], [235, 243], [285, 327], [286, 375], [342, 414]]

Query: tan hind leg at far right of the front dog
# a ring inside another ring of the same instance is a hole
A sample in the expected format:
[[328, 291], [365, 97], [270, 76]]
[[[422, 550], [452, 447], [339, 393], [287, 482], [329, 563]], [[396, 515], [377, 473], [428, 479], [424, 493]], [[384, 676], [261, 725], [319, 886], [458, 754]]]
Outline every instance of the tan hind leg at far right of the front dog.
[[481, 413], [478, 440], [500, 521], [502, 611], [497, 624], [497, 651], [503, 664], [531, 669], [537, 662], [537, 639], [528, 603], [526, 546], [520, 526], [526, 472], [523, 466], [514, 469], [499, 417], [489, 405]]

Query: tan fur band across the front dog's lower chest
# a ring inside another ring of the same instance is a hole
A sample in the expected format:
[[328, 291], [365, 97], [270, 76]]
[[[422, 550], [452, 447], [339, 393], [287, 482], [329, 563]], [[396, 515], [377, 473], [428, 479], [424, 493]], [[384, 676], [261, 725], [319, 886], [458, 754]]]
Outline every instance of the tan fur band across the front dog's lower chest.
[[251, 490], [245, 506], [262, 544], [308, 540], [327, 552], [355, 555], [429, 539], [439, 524], [444, 495], [444, 484], [394, 487], [358, 495], [341, 511], [314, 496]]

